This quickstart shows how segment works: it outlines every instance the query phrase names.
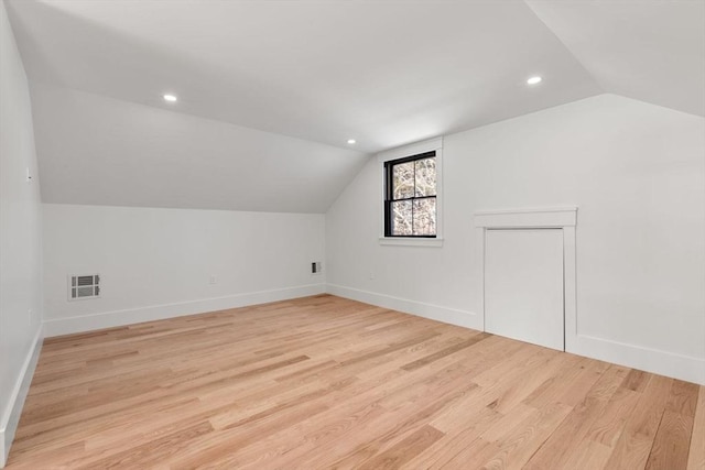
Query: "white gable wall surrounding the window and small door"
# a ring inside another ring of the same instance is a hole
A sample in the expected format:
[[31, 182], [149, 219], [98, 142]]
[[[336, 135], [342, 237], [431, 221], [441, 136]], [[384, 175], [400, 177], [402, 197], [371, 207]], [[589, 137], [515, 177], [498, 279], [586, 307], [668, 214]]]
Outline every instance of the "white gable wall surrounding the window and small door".
[[444, 245], [379, 244], [372, 160], [326, 215], [329, 292], [481, 327], [473, 214], [576, 205], [575, 352], [705, 383], [705, 119], [601, 95], [446, 136], [443, 157]]

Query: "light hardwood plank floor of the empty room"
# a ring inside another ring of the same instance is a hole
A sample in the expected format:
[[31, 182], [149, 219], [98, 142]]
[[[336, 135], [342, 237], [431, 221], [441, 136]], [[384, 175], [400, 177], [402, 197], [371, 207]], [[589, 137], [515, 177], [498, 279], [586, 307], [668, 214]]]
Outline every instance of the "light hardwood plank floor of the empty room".
[[704, 387], [333, 296], [47, 339], [9, 469], [705, 469]]

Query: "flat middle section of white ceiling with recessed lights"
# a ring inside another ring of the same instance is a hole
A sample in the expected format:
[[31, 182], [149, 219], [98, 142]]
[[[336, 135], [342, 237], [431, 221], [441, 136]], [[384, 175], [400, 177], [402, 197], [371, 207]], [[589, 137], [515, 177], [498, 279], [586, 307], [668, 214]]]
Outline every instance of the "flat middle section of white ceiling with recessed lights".
[[517, 0], [10, 6], [32, 79], [368, 152], [600, 92]]

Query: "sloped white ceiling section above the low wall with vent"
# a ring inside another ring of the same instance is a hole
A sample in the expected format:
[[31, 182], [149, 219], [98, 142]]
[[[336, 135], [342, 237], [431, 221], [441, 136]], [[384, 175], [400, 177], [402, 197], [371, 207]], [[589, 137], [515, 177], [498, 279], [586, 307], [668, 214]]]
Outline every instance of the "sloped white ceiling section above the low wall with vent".
[[48, 203], [322, 214], [368, 159], [67, 88], [32, 99]]

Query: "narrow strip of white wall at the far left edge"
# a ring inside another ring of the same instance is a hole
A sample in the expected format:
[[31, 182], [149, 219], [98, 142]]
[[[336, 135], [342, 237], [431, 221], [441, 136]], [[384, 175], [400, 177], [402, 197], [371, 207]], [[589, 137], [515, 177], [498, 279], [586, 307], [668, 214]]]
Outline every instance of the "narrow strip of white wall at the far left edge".
[[[42, 316], [40, 186], [28, 80], [0, 2], [0, 467], [39, 351]], [[26, 168], [33, 175], [26, 182]], [[28, 380], [25, 380], [28, 379]]]

